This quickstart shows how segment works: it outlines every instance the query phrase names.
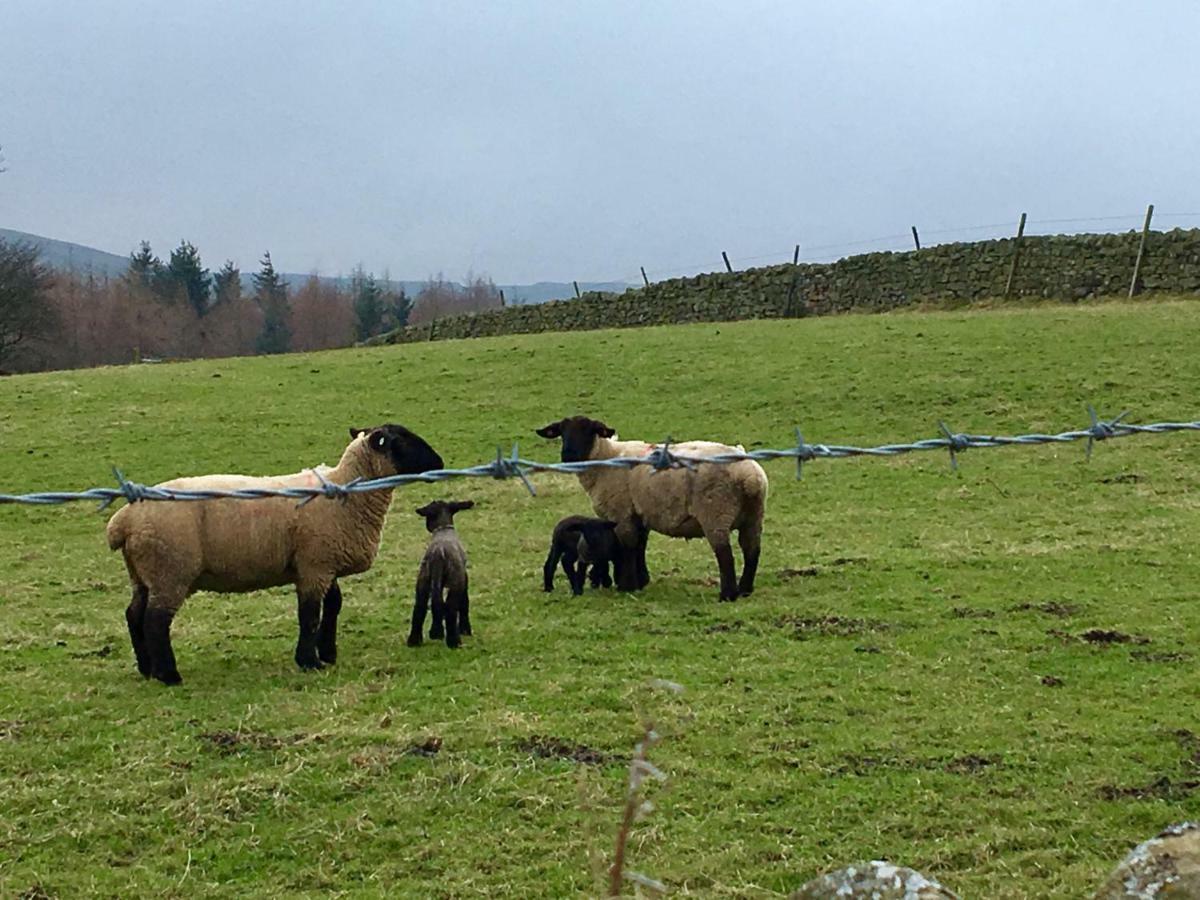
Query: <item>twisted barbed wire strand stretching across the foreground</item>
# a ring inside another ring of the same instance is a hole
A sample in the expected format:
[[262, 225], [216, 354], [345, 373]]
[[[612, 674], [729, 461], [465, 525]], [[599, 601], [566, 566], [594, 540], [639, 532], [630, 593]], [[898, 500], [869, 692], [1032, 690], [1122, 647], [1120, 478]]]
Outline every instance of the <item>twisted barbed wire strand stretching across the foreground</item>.
[[1063, 431], [1057, 434], [967, 434], [950, 431], [944, 422], [938, 422], [942, 437], [914, 440], [907, 444], [881, 444], [880, 446], [848, 446], [844, 444], [809, 444], [804, 440], [800, 430], [796, 430], [796, 445], [782, 450], [750, 450], [713, 456], [688, 456], [676, 454], [671, 450], [671, 439], [667, 438], [661, 444], [649, 445], [643, 456], [618, 456], [611, 460], [584, 460], [581, 462], [535, 462], [522, 460], [517, 445], [512, 445], [512, 452], [504, 456], [497, 449], [496, 458], [491, 462], [472, 466], [466, 469], [434, 469], [412, 475], [389, 475], [376, 479], [355, 479], [344, 485], [329, 481], [319, 470], [312, 469], [312, 474], [318, 481], [314, 486], [295, 487], [254, 487], [240, 488], [235, 491], [181, 491], [176, 488], [152, 487], [127, 480], [120, 469], [113, 469], [116, 475], [116, 487], [92, 487], [86, 491], [46, 491], [38, 493], [10, 494], [0, 493], [0, 504], [23, 503], [29, 505], [58, 505], [76, 500], [96, 500], [104, 509], [114, 500], [127, 500], [138, 503], [140, 500], [258, 500], [268, 497], [290, 497], [300, 500], [300, 505], [308, 503], [317, 497], [330, 499], [346, 499], [352, 493], [365, 491], [386, 491], [402, 485], [414, 482], [448, 481], [456, 478], [516, 478], [528, 488], [530, 494], [536, 494], [529, 475], [538, 472], [559, 472], [577, 474], [588, 469], [598, 468], [624, 468], [635, 466], [653, 466], [655, 469], [688, 468], [694, 469], [701, 464], [728, 464], [743, 460], [755, 460], [764, 462], [768, 460], [796, 460], [796, 476], [800, 478], [805, 462], [814, 460], [844, 460], [851, 456], [900, 456], [918, 450], [947, 450], [950, 455], [950, 466], [958, 469], [958, 455], [966, 450], [980, 450], [996, 446], [1037, 445], [1037, 444], [1069, 444], [1075, 440], [1087, 440], [1087, 456], [1092, 455], [1092, 446], [1098, 440], [1110, 438], [1124, 438], [1130, 434], [1165, 434], [1176, 431], [1200, 431], [1200, 421], [1188, 422], [1156, 422], [1153, 425], [1132, 425], [1123, 421], [1128, 413], [1103, 420], [1097, 416], [1092, 407], [1087, 408], [1091, 416], [1091, 425], [1078, 431]]

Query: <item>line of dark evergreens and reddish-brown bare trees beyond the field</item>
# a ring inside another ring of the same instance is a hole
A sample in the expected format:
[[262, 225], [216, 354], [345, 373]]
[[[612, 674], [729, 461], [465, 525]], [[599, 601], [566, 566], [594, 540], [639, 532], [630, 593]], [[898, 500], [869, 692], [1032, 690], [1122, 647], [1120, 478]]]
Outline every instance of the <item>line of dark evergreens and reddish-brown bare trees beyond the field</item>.
[[232, 260], [212, 272], [184, 240], [166, 262], [142, 241], [124, 275], [97, 277], [55, 271], [34, 245], [0, 240], [0, 371], [332, 349], [500, 305], [492, 281], [474, 275], [431, 277], [415, 298], [361, 265], [293, 288], [268, 252], [244, 284]]

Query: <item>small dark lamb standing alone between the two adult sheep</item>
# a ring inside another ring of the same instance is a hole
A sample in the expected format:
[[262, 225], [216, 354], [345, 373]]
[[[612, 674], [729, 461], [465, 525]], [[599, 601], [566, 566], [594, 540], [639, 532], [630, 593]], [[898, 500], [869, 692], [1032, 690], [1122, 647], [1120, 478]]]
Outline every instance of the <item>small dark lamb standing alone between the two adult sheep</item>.
[[[425, 612], [432, 600], [433, 623], [430, 640], [444, 636], [446, 647], [454, 649], [460, 635], [470, 634], [470, 598], [467, 593], [467, 551], [454, 528], [454, 514], [475, 505], [473, 500], [434, 500], [416, 510], [425, 516], [430, 545], [425, 548], [421, 568], [416, 574], [416, 599], [413, 602], [413, 629], [408, 646], [420, 647]], [[443, 598], [443, 590], [445, 596]]]

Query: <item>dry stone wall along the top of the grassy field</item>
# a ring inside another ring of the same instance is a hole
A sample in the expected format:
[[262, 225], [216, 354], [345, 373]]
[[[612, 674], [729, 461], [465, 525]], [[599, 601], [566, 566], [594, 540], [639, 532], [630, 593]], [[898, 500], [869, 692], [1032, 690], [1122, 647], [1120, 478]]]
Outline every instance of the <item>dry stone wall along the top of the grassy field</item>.
[[[937, 300], [1040, 296], [1081, 300], [1129, 289], [1141, 234], [1024, 235], [941, 244], [906, 253], [865, 253], [836, 263], [785, 264], [672, 278], [624, 294], [510, 306], [410, 325], [370, 343], [635, 328], [679, 322], [824, 316], [894, 310]], [[1012, 284], [1008, 284], [1012, 274]], [[1200, 293], [1200, 229], [1151, 232], [1139, 289]]]

